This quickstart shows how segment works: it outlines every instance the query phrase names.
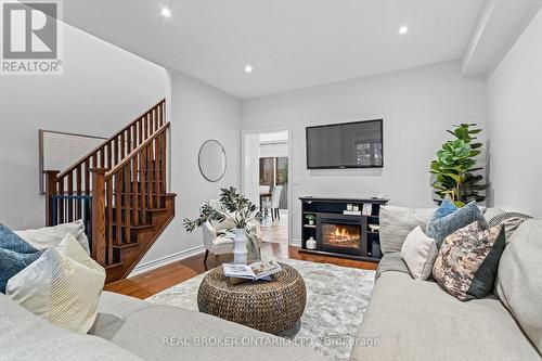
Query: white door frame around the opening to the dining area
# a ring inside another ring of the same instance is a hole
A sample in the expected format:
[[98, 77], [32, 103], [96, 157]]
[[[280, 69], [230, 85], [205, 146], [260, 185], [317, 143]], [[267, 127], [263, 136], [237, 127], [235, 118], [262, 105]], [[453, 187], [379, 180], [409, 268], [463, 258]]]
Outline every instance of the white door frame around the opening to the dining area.
[[287, 131], [288, 132], [288, 198], [287, 198], [287, 204], [288, 204], [288, 246], [292, 244], [292, 235], [293, 235], [293, 224], [294, 222], [292, 221], [293, 219], [293, 206], [294, 206], [294, 182], [293, 182], [293, 164], [292, 162], [292, 143], [293, 143], [293, 137], [292, 137], [292, 131], [293, 128], [289, 126], [284, 126], [284, 127], [269, 127], [269, 128], [254, 128], [254, 129], [244, 129], [241, 131], [241, 190], [243, 193], [245, 193], [245, 177], [243, 175], [243, 171], [245, 169], [245, 136], [247, 134], [255, 134], [255, 133], [272, 133], [276, 131]]

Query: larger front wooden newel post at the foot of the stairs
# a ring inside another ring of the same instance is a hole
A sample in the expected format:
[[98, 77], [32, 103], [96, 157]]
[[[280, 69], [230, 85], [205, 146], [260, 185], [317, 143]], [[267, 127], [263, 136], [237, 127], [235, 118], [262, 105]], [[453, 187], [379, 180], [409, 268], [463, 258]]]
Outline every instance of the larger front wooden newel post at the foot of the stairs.
[[92, 258], [105, 265], [105, 168], [89, 169], [92, 173]]

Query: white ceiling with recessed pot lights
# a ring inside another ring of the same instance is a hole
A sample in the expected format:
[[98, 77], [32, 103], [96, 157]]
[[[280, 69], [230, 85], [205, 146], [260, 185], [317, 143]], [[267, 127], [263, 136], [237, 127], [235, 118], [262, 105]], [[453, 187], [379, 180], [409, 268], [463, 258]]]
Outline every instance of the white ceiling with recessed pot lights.
[[459, 60], [481, 3], [68, 0], [63, 11], [68, 24], [247, 99]]

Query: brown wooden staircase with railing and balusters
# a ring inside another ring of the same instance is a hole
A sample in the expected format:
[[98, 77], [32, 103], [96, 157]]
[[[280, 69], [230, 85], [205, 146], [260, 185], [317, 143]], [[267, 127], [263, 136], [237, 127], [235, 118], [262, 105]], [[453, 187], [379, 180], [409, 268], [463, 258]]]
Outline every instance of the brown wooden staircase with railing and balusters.
[[46, 170], [47, 224], [82, 219], [106, 283], [128, 276], [175, 217], [165, 100], [66, 170]]

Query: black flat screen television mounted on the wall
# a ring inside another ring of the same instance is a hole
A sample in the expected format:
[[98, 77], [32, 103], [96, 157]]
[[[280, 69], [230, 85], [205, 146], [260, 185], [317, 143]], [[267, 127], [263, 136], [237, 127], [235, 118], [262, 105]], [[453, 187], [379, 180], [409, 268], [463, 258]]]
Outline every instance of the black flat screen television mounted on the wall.
[[307, 127], [307, 168], [384, 167], [383, 119]]

